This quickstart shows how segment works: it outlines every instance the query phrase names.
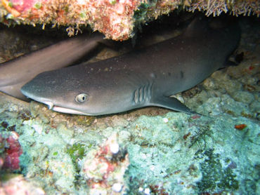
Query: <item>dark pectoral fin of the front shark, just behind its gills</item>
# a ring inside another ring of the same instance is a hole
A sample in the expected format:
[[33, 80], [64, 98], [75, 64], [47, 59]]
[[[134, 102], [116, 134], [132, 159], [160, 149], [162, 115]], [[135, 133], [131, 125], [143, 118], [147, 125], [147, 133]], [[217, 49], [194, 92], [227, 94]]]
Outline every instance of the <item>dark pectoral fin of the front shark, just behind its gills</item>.
[[186, 105], [183, 105], [174, 97], [157, 97], [155, 100], [152, 100], [151, 105], [173, 109], [178, 112], [184, 112], [186, 114], [197, 114], [197, 112], [191, 111], [188, 107], [186, 107]]

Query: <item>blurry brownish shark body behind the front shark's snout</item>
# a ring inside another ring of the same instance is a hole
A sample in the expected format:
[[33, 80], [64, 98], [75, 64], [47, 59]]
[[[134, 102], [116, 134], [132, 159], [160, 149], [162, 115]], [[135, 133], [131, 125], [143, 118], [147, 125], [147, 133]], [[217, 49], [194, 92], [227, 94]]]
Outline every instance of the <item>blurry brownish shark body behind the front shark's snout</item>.
[[81, 35], [0, 64], [0, 91], [28, 100], [20, 88], [41, 72], [72, 65], [103, 41], [102, 34]]

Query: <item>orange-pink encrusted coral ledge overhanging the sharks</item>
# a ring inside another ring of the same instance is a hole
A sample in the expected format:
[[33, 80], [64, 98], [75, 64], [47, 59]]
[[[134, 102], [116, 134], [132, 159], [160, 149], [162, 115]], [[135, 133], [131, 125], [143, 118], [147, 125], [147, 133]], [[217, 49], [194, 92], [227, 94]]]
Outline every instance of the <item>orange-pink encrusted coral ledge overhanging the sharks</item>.
[[67, 25], [68, 34], [77, 34], [81, 25], [105, 34], [108, 39], [125, 40], [133, 36], [135, 26], [183, 8], [186, 11], [204, 11], [206, 15], [259, 15], [258, 0], [1, 0], [0, 20], [9, 23], [35, 25]]

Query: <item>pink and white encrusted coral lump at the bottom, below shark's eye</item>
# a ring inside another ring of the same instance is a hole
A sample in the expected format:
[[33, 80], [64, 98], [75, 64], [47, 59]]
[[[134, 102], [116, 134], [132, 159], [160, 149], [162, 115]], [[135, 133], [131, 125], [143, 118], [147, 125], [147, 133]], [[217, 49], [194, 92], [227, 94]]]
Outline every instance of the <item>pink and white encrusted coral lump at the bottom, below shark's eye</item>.
[[89, 194], [124, 194], [124, 173], [129, 166], [126, 150], [117, 142], [117, 133], [84, 159], [82, 175], [90, 187]]

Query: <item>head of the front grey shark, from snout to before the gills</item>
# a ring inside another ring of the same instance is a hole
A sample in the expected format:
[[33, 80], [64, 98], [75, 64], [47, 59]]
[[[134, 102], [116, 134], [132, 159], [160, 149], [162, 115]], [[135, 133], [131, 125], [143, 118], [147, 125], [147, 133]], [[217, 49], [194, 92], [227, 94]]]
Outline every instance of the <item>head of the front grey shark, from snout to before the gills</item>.
[[113, 107], [108, 100], [109, 91], [86, 80], [86, 75], [80, 71], [77, 75], [67, 72], [67, 69], [60, 69], [37, 75], [22, 86], [21, 92], [32, 100], [48, 105], [49, 109], [56, 112], [108, 114], [108, 110]]

